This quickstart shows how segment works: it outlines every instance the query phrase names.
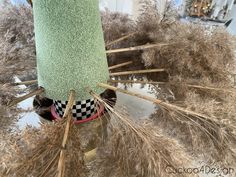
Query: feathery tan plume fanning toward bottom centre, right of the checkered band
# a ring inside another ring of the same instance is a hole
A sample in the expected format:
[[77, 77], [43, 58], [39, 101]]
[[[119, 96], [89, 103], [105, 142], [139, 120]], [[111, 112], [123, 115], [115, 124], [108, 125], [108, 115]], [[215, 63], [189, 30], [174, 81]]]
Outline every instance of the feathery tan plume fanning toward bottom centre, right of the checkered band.
[[123, 110], [113, 109], [106, 100], [90, 93], [111, 117], [108, 138], [98, 150], [92, 176], [184, 176], [168, 171], [168, 168], [189, 166], [191, 158], [180, 144], [164, 137], [152, 122], [135, 122]]

